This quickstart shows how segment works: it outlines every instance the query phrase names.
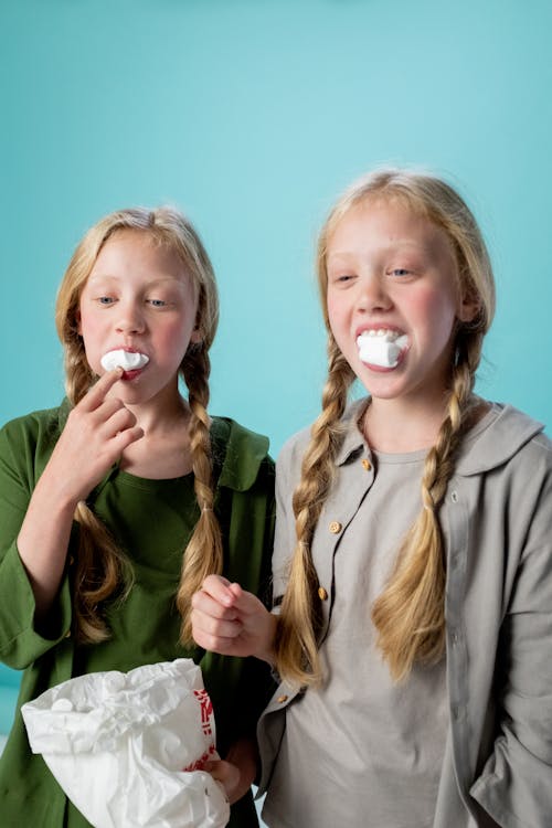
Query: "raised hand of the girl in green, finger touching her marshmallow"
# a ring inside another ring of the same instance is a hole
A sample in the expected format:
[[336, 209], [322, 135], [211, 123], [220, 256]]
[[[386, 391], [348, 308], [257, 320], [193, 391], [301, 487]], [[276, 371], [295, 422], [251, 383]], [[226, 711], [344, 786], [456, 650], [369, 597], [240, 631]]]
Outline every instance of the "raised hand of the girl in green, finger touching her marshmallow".
[[105, 373], [71, 411], [44, 470], [62, 502], [85, 500], [131, 443], [144, 436], [135, 415], [108, 392], [120, 368]]

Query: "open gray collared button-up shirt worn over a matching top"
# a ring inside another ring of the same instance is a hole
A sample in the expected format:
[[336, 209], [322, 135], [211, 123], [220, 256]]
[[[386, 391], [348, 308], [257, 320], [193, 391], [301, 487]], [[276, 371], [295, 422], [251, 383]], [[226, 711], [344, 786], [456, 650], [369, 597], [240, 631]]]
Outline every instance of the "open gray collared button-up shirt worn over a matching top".
[[[328, 596], [339, 539], [369, 486], [369, 475], [364, 486], [352, 486], [349, 474], [364, 450], [355, 425], [361, 405], [354, 403], [346, 415], [348, 429], [337, 456], [336, 482], [312, 543], [319, 584]], [[290, 502], [308, 438], [308, 432], [296, 435], [278, 459], [276, 599], [285, 591], [286, 564], [295, 546]], [[469, 825], [467, 819], [481, 828], [550, 828], [552, 444], [542, 426], [510, 406], [496, 406], [488, 427], [460, 453], [439, 517], [447, 556], [450, 724], [434, 828]], [[321, 606], [323, 638], [331, 597]], [[296, 698], [296, 689], [282, 684], [259, 722], [261, 794], [269, 785], [286, 710]], [[294, 755], [289, 761], [308, 762], [316, 774], [311, 756]], [[289, 803], [283, 825], [294, 825], [293, 813]]]

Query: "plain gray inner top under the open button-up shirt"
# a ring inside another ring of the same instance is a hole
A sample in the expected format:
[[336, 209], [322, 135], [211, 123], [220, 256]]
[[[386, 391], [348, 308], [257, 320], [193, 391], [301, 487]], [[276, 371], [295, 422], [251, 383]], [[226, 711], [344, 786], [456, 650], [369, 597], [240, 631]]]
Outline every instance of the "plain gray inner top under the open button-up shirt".
[[[433, 824], [448, 724], [445, 662], [416, 667], [407, 682], [395, 684], [375, 648], [370, 618], [420, 511], [425, 454], [367, 448], [351, 470], [371, 486], [333, 559], [331, 619], [320, 647], [326, 680], [287, 712], [264, 810], [269, 826]], [[311, 767], [293, 761], [300, 752], [310, 754]], [[289, 803], [293, 816], [283, 820]]]

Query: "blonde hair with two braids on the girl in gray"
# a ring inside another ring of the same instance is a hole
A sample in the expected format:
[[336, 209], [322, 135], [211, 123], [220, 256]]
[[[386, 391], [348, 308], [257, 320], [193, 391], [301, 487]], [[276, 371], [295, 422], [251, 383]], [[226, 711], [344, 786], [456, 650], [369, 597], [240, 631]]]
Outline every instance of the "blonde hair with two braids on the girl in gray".
[[378, 170], [354, 182], [339, 199], [318, 242], [318, 283], [328, 330], [328, 379], [322, 411], [312, 426], [301, 478], [294, 492], [297, 546], [276, 640], [277, 668], [288, 681], [298, 684], [310, 684], [321, 678], [317, 646], [320, 598], [310, 548], [335, 474], [340, 421], [354, 380], [330, 329], [326, 258], [338, 224], [351, 209], [370, 199], [400, 199], [446, 233], [456, 257], [458, 287], [478, 308], [470, 322], [457, 321], [447, 414], [425, 458], [422, 509], [402, 542], [383, 593], [372, 606], [378, 647], [397, 681], [410, 673], [415, 662], [433, 664], [444, 652], [445, 561], [438, 509], [469, 423], [482, 340], [495, 312], [495, 282], [482, 235], [467, 204], [445, 181], [411, 170]]

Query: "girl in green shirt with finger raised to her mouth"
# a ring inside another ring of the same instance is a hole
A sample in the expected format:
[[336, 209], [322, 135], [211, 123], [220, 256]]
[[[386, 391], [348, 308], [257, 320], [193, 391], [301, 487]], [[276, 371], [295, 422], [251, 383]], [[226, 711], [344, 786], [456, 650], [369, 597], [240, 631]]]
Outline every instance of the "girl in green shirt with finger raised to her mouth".
[[268, 667], [205, 652], [190, 627], [209, 574], [268, 598], [274, 468], [265, 437], [208, 415], [217, 318], [208, 254], [172, 209], [106, 216], [65, 273], [66, 400], [0, 432], [0, 658], [24, 670], [0, 758], [2, 828], [88, 825], [31, 753], [22, 703], [75, 676], [182, 657], [213, 702], [210, 769], [230, 825], [257, 825]]

